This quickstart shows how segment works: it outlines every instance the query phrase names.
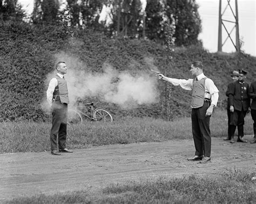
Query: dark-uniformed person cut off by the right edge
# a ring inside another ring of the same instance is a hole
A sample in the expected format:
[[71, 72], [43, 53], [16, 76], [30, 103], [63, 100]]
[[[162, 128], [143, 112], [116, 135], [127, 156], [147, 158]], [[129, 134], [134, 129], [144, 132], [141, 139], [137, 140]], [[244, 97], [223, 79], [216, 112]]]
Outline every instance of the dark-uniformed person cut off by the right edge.
[[253, 119], [253, 132], [254, 132], [254, 137], [253, 137], [253, 140], [251, 143], [256, 144], [256, 81], [251, 83], [250, 96], [252, 99], [251, 115], [252, 115], [252, 119]]

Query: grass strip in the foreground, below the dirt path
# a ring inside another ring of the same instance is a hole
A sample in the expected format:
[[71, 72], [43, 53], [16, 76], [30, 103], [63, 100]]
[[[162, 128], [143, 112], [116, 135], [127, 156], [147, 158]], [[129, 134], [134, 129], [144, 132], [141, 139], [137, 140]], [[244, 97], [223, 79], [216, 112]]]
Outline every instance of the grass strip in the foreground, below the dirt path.
[[38, 195], [9, 203], [255, 203], [253, 174], [234, 169], [215, 177], [198, 174], [183, 178], [165, 176], [113, 184], [95, 192]]

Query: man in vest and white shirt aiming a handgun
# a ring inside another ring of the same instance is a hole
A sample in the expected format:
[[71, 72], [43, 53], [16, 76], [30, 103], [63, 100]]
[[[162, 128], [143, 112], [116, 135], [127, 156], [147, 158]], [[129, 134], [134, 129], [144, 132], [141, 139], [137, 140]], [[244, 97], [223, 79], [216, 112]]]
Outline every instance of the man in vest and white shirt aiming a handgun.
[[190, 72], [196, 76], [196, 79], [173, 79], [163, 74], [158, 74], [158, 76], [159, 79], [168, 81], [174, 86], [180, 86], [185, 90], [192, 90], [191, 120], [196, 152], [194, 157], [187, 160], [200, 160], [200, 163], [207, 163], [211, 160], [210, 117], [213, 107], [217, 105], [219, 90], [213, 81], [204, 75], [201, 61], [193, 62]]

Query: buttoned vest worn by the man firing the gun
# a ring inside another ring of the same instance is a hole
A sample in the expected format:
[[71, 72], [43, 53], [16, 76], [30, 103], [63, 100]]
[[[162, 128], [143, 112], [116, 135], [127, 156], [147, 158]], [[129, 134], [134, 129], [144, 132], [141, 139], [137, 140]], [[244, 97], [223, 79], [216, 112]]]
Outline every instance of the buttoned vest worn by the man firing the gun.
[[205, 94], [206, 94], [205, 93], [206, 79], [207, 78], [203, 78], [199, 81], [193, 80], [191, 108], [200, 108], [204, 105]]

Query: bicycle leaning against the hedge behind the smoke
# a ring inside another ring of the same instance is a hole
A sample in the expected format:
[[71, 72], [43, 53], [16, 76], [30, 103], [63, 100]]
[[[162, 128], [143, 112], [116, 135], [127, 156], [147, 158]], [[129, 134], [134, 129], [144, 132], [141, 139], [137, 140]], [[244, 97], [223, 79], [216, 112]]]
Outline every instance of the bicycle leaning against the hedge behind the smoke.
[[113, 122], [110, 112], [106, 109], [96, 108], [93, 102], [84, 104], [82, 100], [77, 100], [76, 108], [68, 110], [68, 123], [82, 123], [84, 117], [91, 121]]

